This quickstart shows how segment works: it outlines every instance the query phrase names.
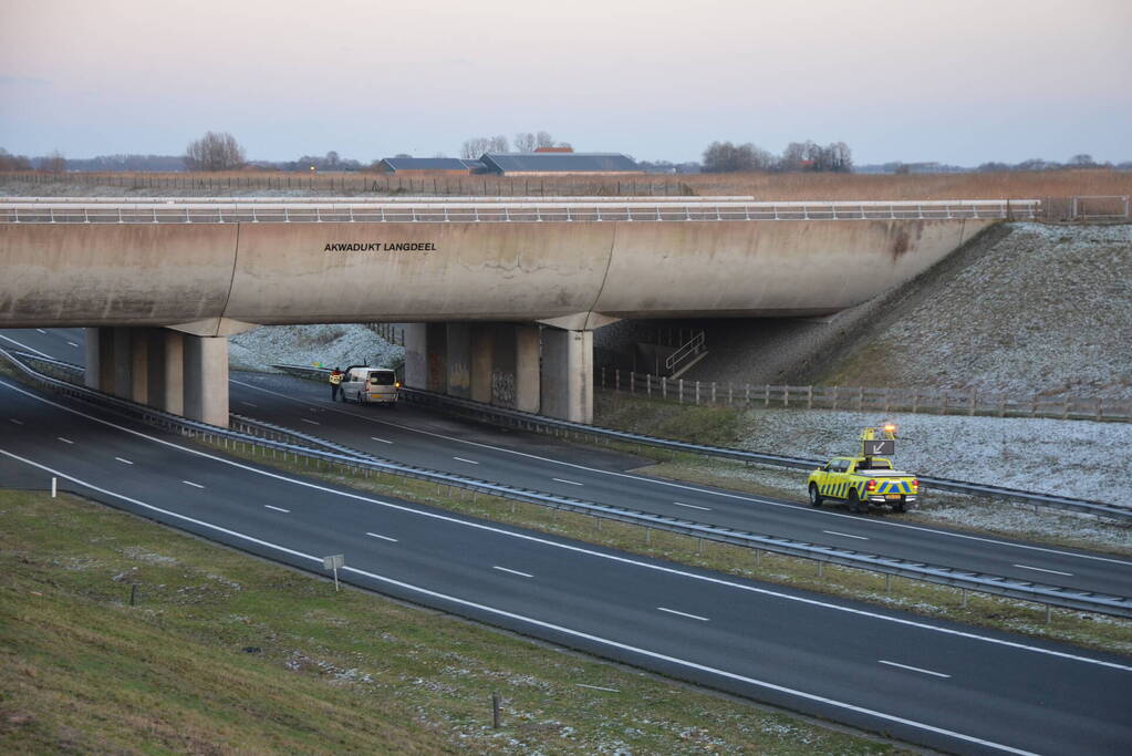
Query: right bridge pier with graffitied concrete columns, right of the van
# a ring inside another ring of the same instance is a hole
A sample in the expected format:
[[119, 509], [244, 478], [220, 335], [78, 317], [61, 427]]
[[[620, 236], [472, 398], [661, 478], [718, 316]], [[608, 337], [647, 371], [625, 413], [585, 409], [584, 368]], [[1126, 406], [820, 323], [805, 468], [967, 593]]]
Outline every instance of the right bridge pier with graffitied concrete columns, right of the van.
[[405, 327], [406, 386], [512, 410], [590, 422], [592, 366], [589, 330], [503, 323]]

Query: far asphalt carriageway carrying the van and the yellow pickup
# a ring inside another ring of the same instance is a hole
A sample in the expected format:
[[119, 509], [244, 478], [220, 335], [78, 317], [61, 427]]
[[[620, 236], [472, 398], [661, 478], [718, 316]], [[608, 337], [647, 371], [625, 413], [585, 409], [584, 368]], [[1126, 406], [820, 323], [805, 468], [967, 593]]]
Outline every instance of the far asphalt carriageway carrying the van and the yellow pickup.
[[[3, 332], [55, 359], [82, 360], [82, 329]], [[0, 334], [0, 335], [3, 335]], [[627, 472], [646, 459], [447, 418], [329, 401], [329, 387], [288, 376], [234, 373], [231, 409], [395, 462], [754, 533], [932, 565], [1132, 595], [1132, 560], [904, 522]], [[757, 469], [751, 469], [756, 476]], [[799, 483], [799, 496], [800, 483]], [[933, 496], [949, 496], [934, 492]]]

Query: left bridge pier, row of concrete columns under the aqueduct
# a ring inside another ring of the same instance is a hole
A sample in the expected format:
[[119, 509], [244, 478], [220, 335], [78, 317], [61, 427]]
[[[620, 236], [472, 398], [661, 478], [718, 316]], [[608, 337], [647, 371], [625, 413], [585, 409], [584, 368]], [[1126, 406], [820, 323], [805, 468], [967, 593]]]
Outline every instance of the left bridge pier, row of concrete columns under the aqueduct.
[[87, 328], [91, 388], [228, 427], [228, 337], [168, 328]]

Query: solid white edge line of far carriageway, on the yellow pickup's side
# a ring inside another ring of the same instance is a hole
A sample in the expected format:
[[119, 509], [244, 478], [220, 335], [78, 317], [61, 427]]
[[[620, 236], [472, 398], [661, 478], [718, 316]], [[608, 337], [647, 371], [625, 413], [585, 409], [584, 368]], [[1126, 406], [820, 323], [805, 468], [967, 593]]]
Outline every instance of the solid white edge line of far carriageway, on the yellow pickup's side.
[[[44, 355], [46, 356], [46, 355]], [[259, 392], [265, 392], [267, 394], [273, 394], [282, 398], [289, 400], [291, 402], [306, 403], [306, 400], [295, 398], [293, 396], [288, 396], [286, 394], [281, 394], [280, 392], [273, 392], [269, 388], [260, 388], [252, 384], [246, 384], [240, 380], [230, 379], [230, 383], [237, 384], [238, 386], [246, 386], [248, 388], [255, 388]], [[454, 436], [445, 436], [444, 433], [437, 433], [430, 430], [422, 430], [420, 428], [413, 428], [412, 426], [404, 426], [401, 423], [392, 422], [389, 420], [380, 420], [378, 418], [371, 418], [365, 414], [359, 414], [354, 412], [348, 412], [338, 407], [328, 406], [326, 407], [329, 412], [341, 412], [342, 414], [348, 414], [352, 418], [358, 418], [360, 420], [366, 420], [369, 422], [376, 422], [380, 426], [389, 426], [392, 428], [400, 428], [401, 430], [408, 430], [413, 433], [421, 433], [422, 436], [432, 436], [435, 438], [443, 438], [448, 441], [454, 441], [456, 444], [466, 444], [468, 446], [475, 446], [481, 449], [491, 449], [492, 452], [500, 452], [503, 454], [512, 454], [518, 457], [526, 457], [528, 459], [538, 459], [540, 462], [548, 462], [550, 464], [563, 465], [566, 467], [574, 467], [575, 470], [584, 470], [586, 472], [597, 473], [601, 475], [612, 475], [615, 478], [628, 478], [629, 480], [640, 481], [642, 483], [651, 483], [653, 486], [666, 486], [668, 488], [677, 488], [685, 491], [695, 491], [696, 493], [707, 493], [710, 496], [719, 496], [724, 499], [736, 499], [738, 501], [755, 501], [757, 504], [765, 504], [771, 507], [782, 507], [786, 509], [795, 509], [799, 513], [805, 513], [809, 516], [817, 517], [840, 517], [844, 519], [851, 519], [854, 524], [860, 524], [860, 515], [850, 515], [840, 512], [833, 512], [832, 509], [815, 509], [805, 504], [787, 504], [784, 501], [774, 501], [772, 499], [764, 499], [756, 496], [744, 496], [741, 493], [730, 493], [727, 491], [715, 491], [706, 488], [697, 488], [695, 486], [688, 486], [686, 483], [676, 483], [668, 480], [660, 480], [657, 478], [648, 478], [645, 475], [633, 475], [631, 473], [615, 472], [612, 470], [600, 470], [598, 467], [588, 467], [586, 465], [580, 465], [574, 462], [565, 462], [564, 459], [554, 459], [551, 457], [543, 457], [538, 454], [530, 454], [529, 452], [518, 452], [516, 449], [507, 449], [501, 446], [492, 446], [490, 444], [482, 444], [480, 441], [470, 441], [465, 438], [456, 438]], [[1056, 553], [1062, 557], [1075, 557], [1078, 559], [1090, 559], [1092, 561], [1104, 561], [1113, 565], [1122, 565], [1124, 567], [1132, 567], [1132, 561], [1125, 559], [1113, 559], [1110, 557], [1098, 557], [1091, 553], [1074, 553], [1072, 551], [1062, 551], [1060, 549], [1049, 549], [1040, 545], [1031, 545], [1028, 543], [1012, 543], [1010, 541], [1000, 541], [993, 538], [985, 538], [981, 535], [970, 535], [968, 533], [957, 533], [954, 531], [941, 531], [934, 527], [927, 527], [924, 525], [912, 525], [910, 523], [899, 523], [892, 519], [874, 519], [868, 522], [868, 526], [874, 527], [898, 527], [903, 530], [917, 531], [920, 533], [932, 533], [933, 535], [942, 535], [946, 538], [958, 538], [966, 541], [978, 541], [979, 543], [994, 543], [995, 545], [1012, 547], [1015, 549], [1026, 549], [1029, 551], [1041, 551], [1043, 553]]]

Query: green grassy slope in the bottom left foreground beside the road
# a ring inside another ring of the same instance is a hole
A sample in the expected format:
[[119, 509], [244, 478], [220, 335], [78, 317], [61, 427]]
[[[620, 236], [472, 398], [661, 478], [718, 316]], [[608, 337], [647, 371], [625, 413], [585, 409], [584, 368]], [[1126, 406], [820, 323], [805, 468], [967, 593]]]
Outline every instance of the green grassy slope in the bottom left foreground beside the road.
[[372, 594], [336, 594], [77, 498], [0, 491], [0, 751], [618, 749], [893, 747]]

